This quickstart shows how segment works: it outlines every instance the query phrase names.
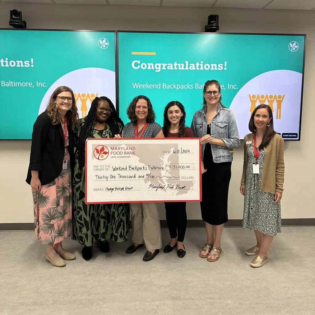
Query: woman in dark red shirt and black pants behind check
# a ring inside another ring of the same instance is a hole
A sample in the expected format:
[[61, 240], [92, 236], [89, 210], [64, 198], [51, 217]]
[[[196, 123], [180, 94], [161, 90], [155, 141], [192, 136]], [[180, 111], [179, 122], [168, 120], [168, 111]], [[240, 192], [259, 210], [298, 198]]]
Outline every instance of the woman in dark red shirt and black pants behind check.
[[[194, 138], [192, 129], [185, 126], [186, 112], [183, 104], [178, 101], [169, 102], [164, 109], [163, 134], [165, 138]], [[166, 221], [171, 241], [164, 248], [170, 253], [177, 246], [177, 256], [186, 254], [184, 237], [187, 226], [186, 202], [166, 202]]]

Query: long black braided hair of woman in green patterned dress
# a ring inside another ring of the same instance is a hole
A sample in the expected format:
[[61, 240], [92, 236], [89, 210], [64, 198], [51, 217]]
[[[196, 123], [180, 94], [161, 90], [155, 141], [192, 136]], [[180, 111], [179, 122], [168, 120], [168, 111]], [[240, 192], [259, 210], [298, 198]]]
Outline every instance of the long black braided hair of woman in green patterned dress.
[[[116, 109], [112, 101], [106, 96], [95, 97], [91, 103], [91, 108], [88, 115], [84, 118], [85, 122], [81, 127], [80, 134], [78, 136], [78, 151], [79, 151], [79, 167], [83, 169], [85, 166], [85, 141], [88, 138], [92, 138], [93, 129], [96, 120], [97, 106], [101, 100], [106, 100], [112, 109], [111, 115], [106, 120], [111, 131], [111, 138], [114, 138], [115, 135], [120, 133], [120, 128], [118, 123], [121, 123], [122, 127], [124, 126], [123, 121], [118, 117]], [[117, 123], [118, 122], [118, 123]]]

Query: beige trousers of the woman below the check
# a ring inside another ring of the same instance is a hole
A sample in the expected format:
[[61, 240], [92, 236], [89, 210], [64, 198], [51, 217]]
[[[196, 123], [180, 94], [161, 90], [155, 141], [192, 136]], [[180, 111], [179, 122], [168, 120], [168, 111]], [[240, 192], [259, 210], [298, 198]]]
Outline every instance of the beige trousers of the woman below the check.
[[161, 226], [157, 212], [157, 203], [130, 203], [131, 221], [134, 229], [132, 241], [146, 245], [147, 250], [162, 247]]

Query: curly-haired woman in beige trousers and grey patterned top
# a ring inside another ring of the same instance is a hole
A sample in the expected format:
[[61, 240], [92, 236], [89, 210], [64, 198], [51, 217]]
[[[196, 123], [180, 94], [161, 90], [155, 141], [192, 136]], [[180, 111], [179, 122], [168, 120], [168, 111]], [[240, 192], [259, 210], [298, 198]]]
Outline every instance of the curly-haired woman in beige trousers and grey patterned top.
[[[127, 108], [130, 123], [123, 127], [124, 138], [164, 138], [162, 128], [155, 123], [155, 113], [151, 101], [144, 95], [136, 96]], [[120, 138], [120, 135], [115, 135]], [[133, 225], [133, 243], [126, 253], [132, 254], [146, 244], [147, 252], [143, 261], [152, 260], [162, 247], [161, 226], [157, 203], [130, 203]]]

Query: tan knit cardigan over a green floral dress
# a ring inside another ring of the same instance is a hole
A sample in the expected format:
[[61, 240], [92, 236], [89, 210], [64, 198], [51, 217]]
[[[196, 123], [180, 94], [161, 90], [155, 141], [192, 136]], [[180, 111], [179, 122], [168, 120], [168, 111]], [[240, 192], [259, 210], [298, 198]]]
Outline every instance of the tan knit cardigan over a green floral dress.
[[[253, 140], [254, 134], [250, 133], [244, 138], [244, 165], [241, 185], [246, 182], [247, 151]], [[250, 143], [249, 143], [250, 141]], [[248, 143], [248, 144], [246, 144]], [[251, 167], [251, 166], [250, 166]], [[284, 141], [276, 134], [266, 146], [264, 165], [261, 173], [261, 191], [283, 192], [284, 183]]]

